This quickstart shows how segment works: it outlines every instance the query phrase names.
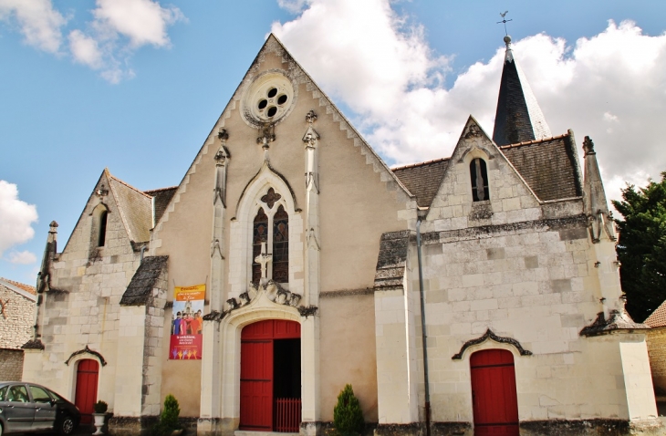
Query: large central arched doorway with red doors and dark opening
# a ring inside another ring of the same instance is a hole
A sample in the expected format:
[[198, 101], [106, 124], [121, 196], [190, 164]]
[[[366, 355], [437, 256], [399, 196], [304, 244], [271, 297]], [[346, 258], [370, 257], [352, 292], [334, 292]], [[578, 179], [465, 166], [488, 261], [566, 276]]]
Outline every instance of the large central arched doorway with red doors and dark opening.
[[298, 431], [300, 333], [300, 324], [282, 319], [266, 319], [243, 328], [240, 430]]

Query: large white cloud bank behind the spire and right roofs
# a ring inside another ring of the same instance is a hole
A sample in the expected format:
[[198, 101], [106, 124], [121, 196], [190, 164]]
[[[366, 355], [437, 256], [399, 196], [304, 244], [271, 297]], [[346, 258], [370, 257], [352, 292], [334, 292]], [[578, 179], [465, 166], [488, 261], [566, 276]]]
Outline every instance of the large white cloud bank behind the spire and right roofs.
[[[432, 53], [421, 27], [389, 0], [279, 0], [296, 19], [272, 31], [317, 83], [356, 112], [369, 142], [390, 162], [449, 156], [469, 114], [492, 135], [504, 60], [498, 47], [445, 88], [447, 58]], [[643, 35], [632, 22], [580, 38], [572, 46], [539, 34], [516, 41], [517, 62], [553, 134], [590, 136], [611, 198], [629, 181], [666, 170], [654, 126], [666, 106], [666, 36]], [[642, 181], [642, 182], [640, 182]]]

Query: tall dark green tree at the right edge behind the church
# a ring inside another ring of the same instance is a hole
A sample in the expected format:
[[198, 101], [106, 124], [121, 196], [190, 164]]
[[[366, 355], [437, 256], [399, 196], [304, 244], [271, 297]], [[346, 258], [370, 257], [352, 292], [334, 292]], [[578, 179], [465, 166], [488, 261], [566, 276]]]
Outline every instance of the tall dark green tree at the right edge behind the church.
[[613, 201], [623, 220], [619, 229], [619, 277], [627, 311], [636, 321], [649, 317], [666, 299], [666, 171], [645, 188], [628, 184], [623, 201]]

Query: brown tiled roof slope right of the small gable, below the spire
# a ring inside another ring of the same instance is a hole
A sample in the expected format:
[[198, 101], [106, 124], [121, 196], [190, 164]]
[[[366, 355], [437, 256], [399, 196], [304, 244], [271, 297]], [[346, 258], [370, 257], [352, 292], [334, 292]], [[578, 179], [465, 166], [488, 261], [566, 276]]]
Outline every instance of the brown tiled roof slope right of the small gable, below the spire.
[[582, 193], [576, 144], [570, 135], [500, 147], [541, 201], [579, 197]]

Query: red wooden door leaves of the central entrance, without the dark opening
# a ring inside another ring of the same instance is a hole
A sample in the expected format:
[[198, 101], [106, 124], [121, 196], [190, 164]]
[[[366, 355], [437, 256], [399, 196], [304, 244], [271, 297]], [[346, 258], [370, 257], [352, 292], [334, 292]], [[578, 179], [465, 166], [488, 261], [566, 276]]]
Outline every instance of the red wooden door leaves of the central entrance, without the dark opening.
[[[241, 430], [274, 430], [275, 353], [276, 341], [281, 339], [300, 339], [300, 324], [267, 319], [250, 324], [241, 332]], [[299, 353], [293, 358], [297, 358], [294, 364], [300, 370]]]

